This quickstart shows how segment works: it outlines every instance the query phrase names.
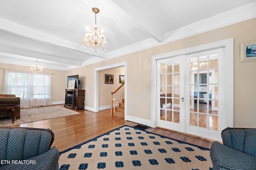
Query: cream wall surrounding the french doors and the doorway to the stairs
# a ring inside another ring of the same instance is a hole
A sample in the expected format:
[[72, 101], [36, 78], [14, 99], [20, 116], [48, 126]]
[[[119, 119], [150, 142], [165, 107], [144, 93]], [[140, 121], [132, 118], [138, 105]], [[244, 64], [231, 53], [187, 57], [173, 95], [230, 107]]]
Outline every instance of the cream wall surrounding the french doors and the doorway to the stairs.
[[240, 63], [240, 43], [256, 40], [256, 18], [100, 63], [68, 70], [84, 74], [88, 107], [94, 107], [94, 68], [127, 62], [127, 115], [151, 121], [151, 57], [234, 38], [234, 127], [256, 127], [256, 62]]

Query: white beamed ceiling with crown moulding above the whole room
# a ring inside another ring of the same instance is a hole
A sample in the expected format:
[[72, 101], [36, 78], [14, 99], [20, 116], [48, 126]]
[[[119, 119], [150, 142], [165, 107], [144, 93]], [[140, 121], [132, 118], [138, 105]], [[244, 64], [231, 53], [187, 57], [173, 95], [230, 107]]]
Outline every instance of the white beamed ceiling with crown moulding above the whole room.
[[[82, 45], [95, 21], [106, 53]], [[256, 0], [0, 0], [0, 63], [68, 70], [256, 17]]]

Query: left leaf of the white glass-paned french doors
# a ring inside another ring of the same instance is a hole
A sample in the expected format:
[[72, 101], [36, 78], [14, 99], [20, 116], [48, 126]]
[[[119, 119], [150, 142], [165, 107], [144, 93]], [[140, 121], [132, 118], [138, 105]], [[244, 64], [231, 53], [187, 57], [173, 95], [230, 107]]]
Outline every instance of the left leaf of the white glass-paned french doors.
[[184, 56], [157, 61], [157, 124], [185, 132]]

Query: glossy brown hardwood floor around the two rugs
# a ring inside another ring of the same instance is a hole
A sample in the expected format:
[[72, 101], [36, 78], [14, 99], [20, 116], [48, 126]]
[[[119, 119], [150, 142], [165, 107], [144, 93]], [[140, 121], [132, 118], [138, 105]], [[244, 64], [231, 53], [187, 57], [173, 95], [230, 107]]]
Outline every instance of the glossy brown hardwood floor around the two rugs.
[[[64, 107], [64, 105], [58, 106]], [[56, 146], [59, 151], [63, 151], [122, 125], [138, 125], [131, 121], [124, 121], [121, 117], [111, 116], [110, 109], [102, 110], [98, 113], [87, 110], [79, 110], [78, 112], [80, 114], [14, 126], [51, 129], [55, 135], [52, 146]], [[206, 147], [208, 149], [210, 149], [212, 145], [212, 141], [197, 139], [188, 135], [174, 133], [166, 129], [149, 128], [146, 131], [192, 143], [201, 147]]]

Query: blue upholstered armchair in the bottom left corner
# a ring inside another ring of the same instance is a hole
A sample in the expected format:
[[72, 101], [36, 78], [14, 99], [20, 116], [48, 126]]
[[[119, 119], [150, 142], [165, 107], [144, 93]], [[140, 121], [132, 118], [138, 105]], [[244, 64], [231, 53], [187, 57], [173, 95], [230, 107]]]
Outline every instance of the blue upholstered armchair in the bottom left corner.
[[0, 127], [0, 170], [58, 170], [50, 129]]

